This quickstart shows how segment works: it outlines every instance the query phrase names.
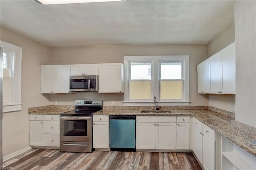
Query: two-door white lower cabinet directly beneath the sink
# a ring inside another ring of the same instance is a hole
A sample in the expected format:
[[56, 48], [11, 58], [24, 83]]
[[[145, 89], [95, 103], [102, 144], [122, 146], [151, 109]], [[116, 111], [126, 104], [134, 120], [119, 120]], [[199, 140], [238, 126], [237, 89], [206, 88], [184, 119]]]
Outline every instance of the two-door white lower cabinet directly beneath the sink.
[[176, 117], [137, 116], [136, 149], [176, 149]]

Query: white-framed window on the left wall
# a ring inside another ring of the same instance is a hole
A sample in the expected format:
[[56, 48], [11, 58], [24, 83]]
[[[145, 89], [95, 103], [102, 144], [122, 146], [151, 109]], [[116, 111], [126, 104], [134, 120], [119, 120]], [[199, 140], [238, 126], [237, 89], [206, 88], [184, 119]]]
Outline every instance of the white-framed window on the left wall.
[[22, 47], [1, 41], [3, 67], [3, 112], [21, 110]]

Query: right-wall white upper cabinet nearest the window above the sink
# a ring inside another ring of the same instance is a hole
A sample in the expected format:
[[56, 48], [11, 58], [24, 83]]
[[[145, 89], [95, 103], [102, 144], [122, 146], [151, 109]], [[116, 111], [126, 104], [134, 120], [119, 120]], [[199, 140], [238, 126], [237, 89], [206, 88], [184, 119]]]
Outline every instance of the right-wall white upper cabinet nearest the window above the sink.
[[209, 93], [210, 65], [209, 59], [197, 65], [198, 93]]

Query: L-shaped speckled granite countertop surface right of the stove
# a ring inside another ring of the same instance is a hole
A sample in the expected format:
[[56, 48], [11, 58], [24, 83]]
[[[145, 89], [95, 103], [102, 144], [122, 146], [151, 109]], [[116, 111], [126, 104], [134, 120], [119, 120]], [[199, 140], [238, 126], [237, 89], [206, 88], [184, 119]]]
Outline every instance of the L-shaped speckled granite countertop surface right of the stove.
[[171, 110], [171, 113], [140, 113], [141, 110], [101, 110], [94, 115], [193, 116], [250, 154], [256, 156], [256, 136], [243, 131], [233, 118], [209, 110]]

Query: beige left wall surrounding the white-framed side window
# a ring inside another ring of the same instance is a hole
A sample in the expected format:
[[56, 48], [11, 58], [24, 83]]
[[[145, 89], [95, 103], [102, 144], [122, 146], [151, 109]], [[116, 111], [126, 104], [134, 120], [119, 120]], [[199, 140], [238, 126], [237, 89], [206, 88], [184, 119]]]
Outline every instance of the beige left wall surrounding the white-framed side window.
[[1, 27], [1, 40], [22, 47], [21, 111], [3, 114], [3, 155], [29, 146], [28, 108], [49, 105], [40, 94], [40, 65], [50, 64], [50, 47]]

